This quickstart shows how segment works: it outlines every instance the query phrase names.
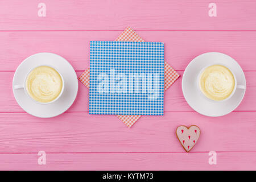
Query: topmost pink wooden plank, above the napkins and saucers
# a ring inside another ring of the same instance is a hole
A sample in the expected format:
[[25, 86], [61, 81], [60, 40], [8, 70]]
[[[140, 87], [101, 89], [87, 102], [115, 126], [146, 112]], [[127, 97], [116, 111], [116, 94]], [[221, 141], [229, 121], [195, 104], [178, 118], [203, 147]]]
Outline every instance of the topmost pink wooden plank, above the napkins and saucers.
[[39, 1], [0, 2], [1, 30], [255, 30], [256, 2], [221, 1], [217, 17], [209, 17], [211, 1], [72, 1], [44, 0], [46, 17], [38, 16]]

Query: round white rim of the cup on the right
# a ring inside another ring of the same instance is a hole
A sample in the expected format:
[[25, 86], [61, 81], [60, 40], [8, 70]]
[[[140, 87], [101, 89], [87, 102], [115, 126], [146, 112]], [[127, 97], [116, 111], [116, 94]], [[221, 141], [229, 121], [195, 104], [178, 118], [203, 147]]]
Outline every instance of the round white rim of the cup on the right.
[[[212, 100], [210, 98], [208, 98], [207, 96], [205, 96], [205, 94], [202, 92], [202, 90], [200, 89], [200, 86], [199, 86], [199, 81], [200, 81], [200, 76], [201, 76], [201, 73], [208, 67], [212, 66], [212, 65], [222, 65], [226, 68], [229, 69], [229, 71], [232, 73], [233, 77], [234, 77], [234, 88], [233, 88], [233, 91], [232, 93], [229, 95], [229, 97], [225, 98], [224, 100], [220, 100], [220, 101], [215, 101], [215, 100]], [[222, 64], [222, 63], [213, 63], [213, 64], [208, 64], [207, 66], [205, 66], [204, 68], [202, 68], [199, 72], [199, 75], [197, 76], [197, 88], [199, 89], [201, 95], [204, 97], [204, 98], [207, 98], [207, 100], [209, 101], [212, 101], [212, 102], [224, 102], [224, 101], [227, 101], [229, 100], [233, 95], [234, 93], [236, 92], [236, 89], [237, 89], [237, 77], [236, 75], [234, 74], [234, 72], [232, 71], [232, 69], [230, 69], [227, 65], [225, 64]]]

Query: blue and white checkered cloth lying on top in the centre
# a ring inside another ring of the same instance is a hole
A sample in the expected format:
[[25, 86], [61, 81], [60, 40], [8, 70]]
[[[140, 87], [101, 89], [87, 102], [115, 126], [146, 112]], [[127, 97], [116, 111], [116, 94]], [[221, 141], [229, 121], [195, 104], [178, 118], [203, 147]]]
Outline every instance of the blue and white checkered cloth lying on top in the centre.
[[89, 114], [163, 115], [163, 92], [163, 43], [90, 42]]

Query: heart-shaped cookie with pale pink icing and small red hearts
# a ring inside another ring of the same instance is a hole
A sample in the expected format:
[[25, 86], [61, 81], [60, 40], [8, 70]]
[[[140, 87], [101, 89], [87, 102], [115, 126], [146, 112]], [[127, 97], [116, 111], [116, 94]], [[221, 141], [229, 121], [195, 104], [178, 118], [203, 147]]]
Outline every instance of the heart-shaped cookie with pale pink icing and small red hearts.
[[192, 125], [189, 128], [179, 126], [176, 129], [176, 135], [185, 151], [189, 152], [200, 137], [200, 129], [196, 125]]

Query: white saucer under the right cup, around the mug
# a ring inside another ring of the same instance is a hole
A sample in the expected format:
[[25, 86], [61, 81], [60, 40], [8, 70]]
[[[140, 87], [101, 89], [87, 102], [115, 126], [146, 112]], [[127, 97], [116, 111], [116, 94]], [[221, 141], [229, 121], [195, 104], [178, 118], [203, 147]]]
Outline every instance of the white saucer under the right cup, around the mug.
[[218, 117], [232, 112], [240, 105], [245, 96], [245, 89], [237, 89], [227, 101], [212, 102], [203, 97], [197, 88], [197, 76], [201, 69], [209, 64], [222, 63], [232, 69], [237, 78], [237, 85], [245, 85], [245, 75], [242, 68], [232, 57], [219, 52], [208, 52], [197, 56], [188, 64], [182, 78], [182, 91], [188, 105], [197, 113]]

